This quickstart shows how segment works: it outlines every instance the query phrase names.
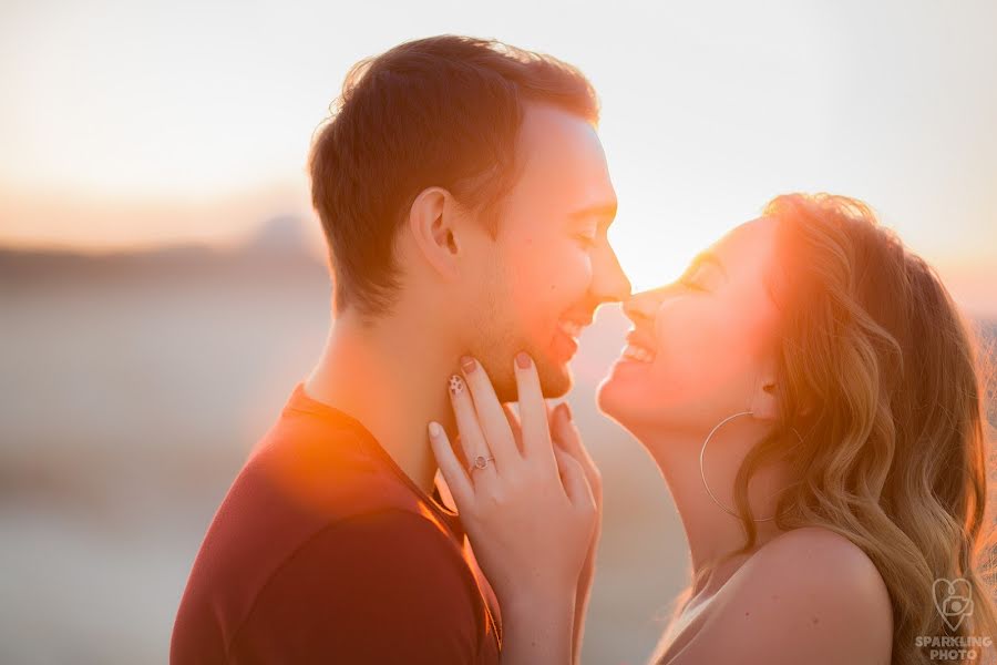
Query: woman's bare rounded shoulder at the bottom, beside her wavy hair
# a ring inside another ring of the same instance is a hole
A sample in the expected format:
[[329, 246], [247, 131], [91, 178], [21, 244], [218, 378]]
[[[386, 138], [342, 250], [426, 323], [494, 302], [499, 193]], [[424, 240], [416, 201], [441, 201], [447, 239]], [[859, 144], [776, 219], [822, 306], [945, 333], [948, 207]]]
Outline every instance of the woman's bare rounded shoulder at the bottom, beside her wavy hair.
[[861, 548], [802, 528], [762, 546], [675, 663], [888, 663], [890, 594]]

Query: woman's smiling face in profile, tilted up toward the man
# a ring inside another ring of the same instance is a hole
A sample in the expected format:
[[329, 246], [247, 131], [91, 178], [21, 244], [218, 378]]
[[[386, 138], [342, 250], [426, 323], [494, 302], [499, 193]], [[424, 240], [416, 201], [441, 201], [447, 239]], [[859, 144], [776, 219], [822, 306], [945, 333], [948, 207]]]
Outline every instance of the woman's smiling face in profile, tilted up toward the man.
[[682, 277], [634, 295], [628, 346], [598, 390], [599, 407], [639, 434], [693, 436], [741, 411], [774, 417], [778, 310], [769, 272], [774, 218], [742, 224]]

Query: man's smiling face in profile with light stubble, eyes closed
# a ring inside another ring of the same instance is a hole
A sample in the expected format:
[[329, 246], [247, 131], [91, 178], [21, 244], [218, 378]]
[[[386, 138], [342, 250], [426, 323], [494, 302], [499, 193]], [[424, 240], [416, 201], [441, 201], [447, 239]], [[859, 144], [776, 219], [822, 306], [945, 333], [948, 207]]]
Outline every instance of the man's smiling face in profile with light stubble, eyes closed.
[[606, 237], [616, 193], [592, 125], [530, 105], [516, 157], [520, 177], [500, 204], [497, 237], [474, 243], [479, 268], [465, 293], [473, 324], [467, 344], [501, 401], [516, 399], [520, 350], [536, 362], [546, 397], [566, 393], [580, 328], [600, 303], [630, 293]]

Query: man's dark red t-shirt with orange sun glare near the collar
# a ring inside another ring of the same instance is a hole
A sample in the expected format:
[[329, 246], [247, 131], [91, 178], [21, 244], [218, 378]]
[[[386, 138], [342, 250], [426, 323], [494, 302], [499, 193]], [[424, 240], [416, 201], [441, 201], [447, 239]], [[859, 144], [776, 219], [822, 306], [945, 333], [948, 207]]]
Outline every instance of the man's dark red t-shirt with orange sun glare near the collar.
[[458, 515], [299, 383], [208, 529], [169, 662], [496, 664], [465, 554]]

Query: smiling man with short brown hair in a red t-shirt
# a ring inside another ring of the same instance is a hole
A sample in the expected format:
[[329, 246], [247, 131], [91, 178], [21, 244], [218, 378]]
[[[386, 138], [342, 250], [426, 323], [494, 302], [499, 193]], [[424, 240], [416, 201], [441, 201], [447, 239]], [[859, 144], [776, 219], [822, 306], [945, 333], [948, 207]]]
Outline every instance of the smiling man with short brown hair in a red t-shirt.
[[629, 293], [616, 197], [574, 68], [438, 37], [356, 65], [315, 139], [325, 351], [229, 489], [174, 627], [179, 663], [497, 663], [498, 608], [434, 491], [425, 427], [477, 358], [544, 393], [600, 303]]

